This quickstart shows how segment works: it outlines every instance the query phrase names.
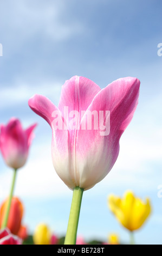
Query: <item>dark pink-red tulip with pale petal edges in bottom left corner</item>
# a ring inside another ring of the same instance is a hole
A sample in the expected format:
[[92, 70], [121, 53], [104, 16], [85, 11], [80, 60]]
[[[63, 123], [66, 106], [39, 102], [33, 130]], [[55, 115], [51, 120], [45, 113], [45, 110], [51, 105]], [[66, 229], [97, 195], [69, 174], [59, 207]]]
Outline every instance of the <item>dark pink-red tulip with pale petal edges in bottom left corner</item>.
[[0, 245], [21, 245], [22, 240], [10, 233], [8, 228], [0, 230]]

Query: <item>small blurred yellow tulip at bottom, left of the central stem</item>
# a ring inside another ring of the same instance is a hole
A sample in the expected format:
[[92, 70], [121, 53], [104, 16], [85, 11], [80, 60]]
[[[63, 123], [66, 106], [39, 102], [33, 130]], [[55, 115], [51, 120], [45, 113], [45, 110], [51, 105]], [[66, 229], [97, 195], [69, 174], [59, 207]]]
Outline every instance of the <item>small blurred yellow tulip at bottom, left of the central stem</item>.
[[40, 223], [37, 225], [33, 241], [35, 245], [50, 245], [51, 232], [46, 224]]

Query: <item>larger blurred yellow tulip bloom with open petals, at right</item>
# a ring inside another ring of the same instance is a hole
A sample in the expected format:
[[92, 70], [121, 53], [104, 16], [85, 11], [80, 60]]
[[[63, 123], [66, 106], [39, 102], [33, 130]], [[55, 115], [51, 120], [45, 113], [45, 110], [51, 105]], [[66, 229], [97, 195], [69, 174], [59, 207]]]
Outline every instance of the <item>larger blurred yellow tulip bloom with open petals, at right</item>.
[[142, 202], [132, 191], [126, 191], [123, 198], [111, 194], [108, 206], [117, 220], [130, 231], [139, 229], [151, 213], [150, 200], [146, 198], [146, 203]]

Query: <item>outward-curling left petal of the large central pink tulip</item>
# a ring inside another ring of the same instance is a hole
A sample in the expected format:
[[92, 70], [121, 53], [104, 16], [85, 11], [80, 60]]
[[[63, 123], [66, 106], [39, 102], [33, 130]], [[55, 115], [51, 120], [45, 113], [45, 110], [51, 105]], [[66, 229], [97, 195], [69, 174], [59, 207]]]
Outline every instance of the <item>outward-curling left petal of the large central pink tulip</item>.
[[[38, 115], [43, 117], [52, 128], [52, 160], [56, 173], [67, 184], [68, 187], [73, 187], [74, 183], [70, 178], [69, 169], [71, 168], [71, 148], [69, 132], [66, 125], [64, 129], [57, 129], [54, 125], [54, 113], [58, 115], [59, 120], [62, 120], [62, 115], [59, 110], [47, 97], [42, 95], [34, 95], [28, 101], [29, 107]], [[62, 123], [63, 124], [63, 123]], [[59, 127], [60, 128], [60, 127]]]

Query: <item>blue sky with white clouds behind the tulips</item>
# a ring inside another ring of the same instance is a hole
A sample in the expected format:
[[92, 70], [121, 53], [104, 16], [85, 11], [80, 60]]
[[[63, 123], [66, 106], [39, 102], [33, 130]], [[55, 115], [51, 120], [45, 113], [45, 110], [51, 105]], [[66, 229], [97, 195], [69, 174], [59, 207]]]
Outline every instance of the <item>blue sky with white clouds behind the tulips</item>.
[[[107, 207], [107, 196], [127, 189], [150, 197], [152, 214], [135, 233], [137, 243], [160, 243], [162, 235], [162, 42], [161, 1], [6, 0], [0, 10], [0, 123], [20, 118], [23, 127], [35, 122], [35, 139], [27, 163], [17, 173], [14, 194], [22, 199], [23, 223], [32, 233], [39, 222], [58, 235], [66, 233], [72, 191], [51, 162], [51, 130], [28, 106], [42, 94], [58, 105], [61, 86], [74, 75], [101, 88], [125, 76], [141, 82], [139, 105], [120, 140], [111, 172], [83, 194], [78, 234], [107, 239], [116, 232], [129, 241], [127, 230]], [[8, 195], [12, 170], [0, 157], [0, 202]]]

